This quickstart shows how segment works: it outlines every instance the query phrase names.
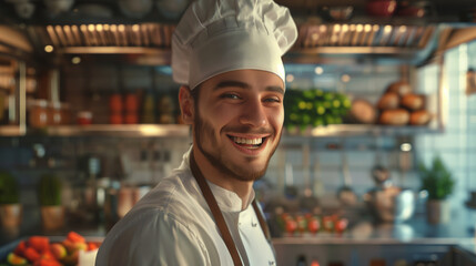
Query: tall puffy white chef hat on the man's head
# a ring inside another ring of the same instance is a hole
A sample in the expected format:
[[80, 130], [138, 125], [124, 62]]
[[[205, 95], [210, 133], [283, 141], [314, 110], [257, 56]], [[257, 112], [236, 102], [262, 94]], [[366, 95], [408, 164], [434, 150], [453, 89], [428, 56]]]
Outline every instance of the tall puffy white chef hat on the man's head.
[[223, 72], [255, 69], [285, 82], [281, 57], [296, 38], [290, 11], [273, 0], [194, 1], [172, 37], [173, 79], [194, 89]]

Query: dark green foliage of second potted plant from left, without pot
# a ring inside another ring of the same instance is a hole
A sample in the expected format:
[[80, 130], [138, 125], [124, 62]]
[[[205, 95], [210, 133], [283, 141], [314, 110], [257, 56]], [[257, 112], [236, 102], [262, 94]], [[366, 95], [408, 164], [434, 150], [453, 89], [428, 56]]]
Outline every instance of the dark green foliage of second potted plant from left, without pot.
[[38, 185], [38, 196], [41, 206], [61, 205], [61, 180], [52, 174], [44, 174], [40, 177]]

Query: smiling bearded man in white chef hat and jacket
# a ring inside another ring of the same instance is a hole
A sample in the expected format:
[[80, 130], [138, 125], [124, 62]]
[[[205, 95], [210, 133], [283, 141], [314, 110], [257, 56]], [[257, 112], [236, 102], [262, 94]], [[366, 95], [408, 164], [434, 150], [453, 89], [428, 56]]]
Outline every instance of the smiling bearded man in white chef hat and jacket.
[[284, 121], [281, 57], [297, 37], [272, 0], [198, 0], [172, 42], [193, 145], [108, 234], [97, 265], [275, 265], [254, 202]]

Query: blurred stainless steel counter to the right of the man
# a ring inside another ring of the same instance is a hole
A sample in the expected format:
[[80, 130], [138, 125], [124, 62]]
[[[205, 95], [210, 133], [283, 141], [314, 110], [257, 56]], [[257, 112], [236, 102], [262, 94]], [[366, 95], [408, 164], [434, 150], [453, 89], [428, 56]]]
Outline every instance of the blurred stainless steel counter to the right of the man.
[[[459, 214], [464, 216], [464, 214]], [[341, 235], [317, 233], [273, 239], [277, 265], [476, 265], [470, 221], [429, 225], [359, 222]], [[465, 263], [463, 263], [465, 262]], [[418, 264], [422, 263], [422, 264]], [[317, 265], [317, 264], [314, 264]]]

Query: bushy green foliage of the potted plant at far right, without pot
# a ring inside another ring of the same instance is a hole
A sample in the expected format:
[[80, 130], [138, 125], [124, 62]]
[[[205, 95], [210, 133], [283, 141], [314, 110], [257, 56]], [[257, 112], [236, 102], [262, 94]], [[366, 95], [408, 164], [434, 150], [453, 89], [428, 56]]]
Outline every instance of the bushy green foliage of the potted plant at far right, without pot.
[[418, 172], [422, 190], [428, 192], [429, 200], [445, 200], [453, 193], [455, 180], [439, 156], [435, 156], [428, 167], [419, 163]]

